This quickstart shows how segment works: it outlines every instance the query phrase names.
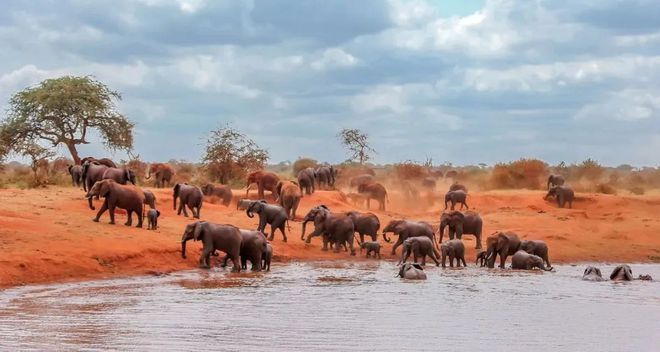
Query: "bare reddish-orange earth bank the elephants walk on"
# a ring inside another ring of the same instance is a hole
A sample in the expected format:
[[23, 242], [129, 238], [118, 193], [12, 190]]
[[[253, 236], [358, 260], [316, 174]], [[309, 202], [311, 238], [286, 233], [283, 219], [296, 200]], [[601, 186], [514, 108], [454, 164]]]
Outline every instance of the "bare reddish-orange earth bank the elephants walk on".
[[[88, 209], [80, 189], [0, 190], [0, 287], [159, 275], [195, 268], [199, 242], [189, 242], [188, 259], [180, 255], [183, 229], [193, 220], [175, 215], [170, 189], [152, 191], [162, 212], [157, 231], [147, 231], [146, 222], [145, 229], [123, 226], [126, 217], [121, 211], [117, 225], [108, 224], [107, 213], [100, 223], [92, 222], [95, 211]], [[242, 192], [235, 191], [235, 197]], [[486, 235], [511, 230], [522, 238], [545, 240], [553, 263], [660, 261], [660, 196], [580, 194], [574, 209], [557, 209], [554, 203], [542, 199], [544, 193], [471, 193], [468, 204], [484, 218]], [[440, 195], [438, 191], [427, 195], [427, 199], [440, 199]], [[437, 226], [442, 210], [440, 202], [411, 207], [400, 205], [396, 193], [390, 199], [387, 212], [373, 211], [381, 219], [382, 227], [395, 218], [426, 220]], [[298, 217], [302, 218], [318, 204], [326, 204], [335, 212], [364, 210], [344, 201], [338, 192], [319, 191], [303, 198]], [[415, 208], [419, 210], [411, 210]], [[256, 228], [258, 221], [237, 211], [235, 203], [229, 207], [205, 203], [202, 219], [250, 229]], [[313, 228], [309, 225], [308, 232]], [[288, 243], [283, 243], [276, 234], [275, 261], [367, 260], [343, 252], [322, 252], [318, 238], [305, 245], [300, 240], [300, 222], [292, 222], [291, 227]], [[474, 237], [464, 239], [468, 264], [473, 265]], [[394, 259], [389, 255], [390, 246], [385, 244], [383, 259]]]

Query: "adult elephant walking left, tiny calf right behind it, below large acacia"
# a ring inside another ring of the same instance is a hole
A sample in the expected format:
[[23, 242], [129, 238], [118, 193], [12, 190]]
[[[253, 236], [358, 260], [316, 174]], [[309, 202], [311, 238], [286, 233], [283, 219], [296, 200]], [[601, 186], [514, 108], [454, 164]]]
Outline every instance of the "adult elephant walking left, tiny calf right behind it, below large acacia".
[[142, 227], [142, 211], [144, 209], [144, 193], [138, 187], [133, 185], [122, 185], [114, 180], [101, 180], [98, 181], [87, 192], [87, 199], [89, 199], [90, 209], [94, 210], [91, 205], [92, 197], [103, 197], [103, 206], [94, 218], [95, 222], [99, 222], [99, 218], [106, 210], [110, 212], [110, 224], [115, 223], [115, 208], [126, 210], [128, 220], [124, 225], [131, 226], [133, 223], [133, 213], [137, 215], [137, 227]]

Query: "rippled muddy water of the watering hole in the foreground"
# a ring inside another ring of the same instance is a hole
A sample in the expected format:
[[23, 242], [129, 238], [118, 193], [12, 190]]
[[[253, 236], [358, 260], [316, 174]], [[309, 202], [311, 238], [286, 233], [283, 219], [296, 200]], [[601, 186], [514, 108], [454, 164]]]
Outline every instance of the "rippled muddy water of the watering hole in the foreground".
[[0, 292], [0, 350], [658, 351], [660, 282], [583, 268], [405, 282], [391, 263], [318, 262], [23, 287]]

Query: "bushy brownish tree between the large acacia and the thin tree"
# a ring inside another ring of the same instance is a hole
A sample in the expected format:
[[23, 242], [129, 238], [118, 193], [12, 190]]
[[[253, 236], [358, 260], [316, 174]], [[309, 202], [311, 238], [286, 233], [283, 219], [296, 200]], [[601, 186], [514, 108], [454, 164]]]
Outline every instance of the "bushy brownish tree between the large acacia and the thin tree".
[[211, 131], [202, 162], [212, 178], [226, 184], [244, 177], [250, 170], [263, 168], [268, 158], [267, 150], [240, 131], [225, 126]]

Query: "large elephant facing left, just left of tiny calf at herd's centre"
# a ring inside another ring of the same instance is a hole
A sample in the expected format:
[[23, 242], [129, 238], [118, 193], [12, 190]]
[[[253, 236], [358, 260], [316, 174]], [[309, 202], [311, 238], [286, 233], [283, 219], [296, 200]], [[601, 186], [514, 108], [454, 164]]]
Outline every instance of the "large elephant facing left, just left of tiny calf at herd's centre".
[[[305, 227], [309, 221], [314, 222], [314, 231], [305, 240]], [[303, 219], [300, 239], [305, 240], [305, 243], [310, 243], [312, 237], [320, 235], [323, 235], [324, 251], [328, 250], [328, 243], [331, 243], [335, 246], [335, 252], [339, 252], [339, 248], [348, 242], [351, 255], [355, 255], [355, 249], [353, 248], [355, 225], [348, 215], [332, 214], [325, 205], [312, 208]]]

